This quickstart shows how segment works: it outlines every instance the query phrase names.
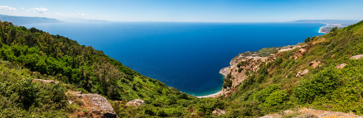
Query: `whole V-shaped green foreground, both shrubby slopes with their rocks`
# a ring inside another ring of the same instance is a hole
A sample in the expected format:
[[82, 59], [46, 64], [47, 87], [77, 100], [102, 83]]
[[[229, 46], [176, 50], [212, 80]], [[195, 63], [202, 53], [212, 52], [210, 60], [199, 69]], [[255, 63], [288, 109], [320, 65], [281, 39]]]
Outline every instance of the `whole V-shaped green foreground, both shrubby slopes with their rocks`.
[[196, 98], [91, 46], [0, 22], [0, 116], [359, 118], [362, 47], [363, 21], [305, 43], [241, 53], [222, 71], [223, 94]]

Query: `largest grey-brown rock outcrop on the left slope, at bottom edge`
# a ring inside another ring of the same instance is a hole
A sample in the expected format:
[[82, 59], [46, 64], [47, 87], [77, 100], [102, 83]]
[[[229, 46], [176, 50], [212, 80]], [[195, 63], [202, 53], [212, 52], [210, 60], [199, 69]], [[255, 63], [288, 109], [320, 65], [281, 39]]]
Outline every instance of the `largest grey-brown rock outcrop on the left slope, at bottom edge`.
[[73, 92], [78, 98], [83, 100], [85, 106], [90, 107], [90, 111], [98, 114], [112, 114], [116, 115], [109, 101], [99, 94], [80, 94], [80, 92]]

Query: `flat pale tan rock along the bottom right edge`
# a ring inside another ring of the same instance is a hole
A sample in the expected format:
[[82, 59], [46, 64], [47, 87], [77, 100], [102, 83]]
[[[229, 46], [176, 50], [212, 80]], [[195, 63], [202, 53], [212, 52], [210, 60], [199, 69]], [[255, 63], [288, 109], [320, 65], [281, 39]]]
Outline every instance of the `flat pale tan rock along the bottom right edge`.
[[363, 118], [354, 114], [342, 113], [342, 112], [332, 112], [323, 110], [314, 110], [301, 108], [298, 111], [285, 111], [284, 114], [271, 114], [259, 118], [285, 118], [291, 114], [297, 114], [294, 118]]

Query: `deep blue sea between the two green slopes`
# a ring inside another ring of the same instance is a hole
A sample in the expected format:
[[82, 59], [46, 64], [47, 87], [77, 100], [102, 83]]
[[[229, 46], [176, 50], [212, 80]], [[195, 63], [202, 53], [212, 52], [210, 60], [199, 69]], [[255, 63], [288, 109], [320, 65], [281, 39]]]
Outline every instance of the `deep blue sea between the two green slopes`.
[[[102, 50], [139, 73], [201, 96], [221, 90], [218, 73], [239, 53], [303, 42], [323, 24], [106, 22], [24, 25]], [[207, 32], [208, 31], [208, 32]]]

